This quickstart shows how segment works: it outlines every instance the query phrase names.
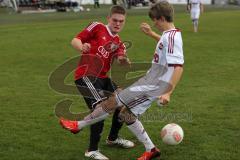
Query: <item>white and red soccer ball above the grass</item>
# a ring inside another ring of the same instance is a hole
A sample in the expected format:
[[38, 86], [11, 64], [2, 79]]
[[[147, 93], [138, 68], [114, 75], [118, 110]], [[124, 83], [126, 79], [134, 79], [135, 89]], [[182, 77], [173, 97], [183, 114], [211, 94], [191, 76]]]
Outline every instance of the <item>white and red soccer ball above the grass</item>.
[[164, 126], [161, 130], [162, 141], [168, 145], [177, 145], [183, 140], [182, 128], [175, 124], [170, 123]]

